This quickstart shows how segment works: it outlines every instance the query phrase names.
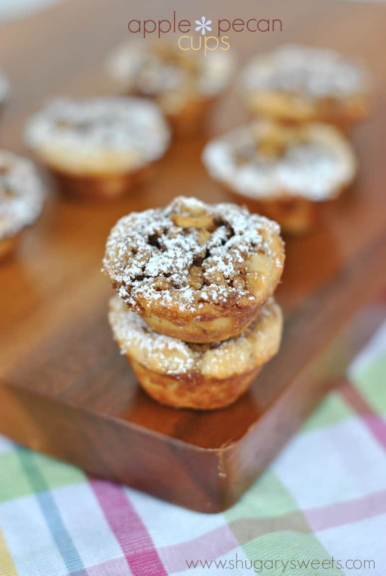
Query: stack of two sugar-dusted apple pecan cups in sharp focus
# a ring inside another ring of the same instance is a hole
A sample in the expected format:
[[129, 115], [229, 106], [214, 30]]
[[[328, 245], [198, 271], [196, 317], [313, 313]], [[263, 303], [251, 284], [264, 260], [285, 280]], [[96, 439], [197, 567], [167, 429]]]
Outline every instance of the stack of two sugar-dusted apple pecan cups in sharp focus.
[[243, 394], [277, 353], [279, 226], [234, 204], [175, 198], [120, 219], [104, 272], [113, 337], [162, 404], [214, 410]]

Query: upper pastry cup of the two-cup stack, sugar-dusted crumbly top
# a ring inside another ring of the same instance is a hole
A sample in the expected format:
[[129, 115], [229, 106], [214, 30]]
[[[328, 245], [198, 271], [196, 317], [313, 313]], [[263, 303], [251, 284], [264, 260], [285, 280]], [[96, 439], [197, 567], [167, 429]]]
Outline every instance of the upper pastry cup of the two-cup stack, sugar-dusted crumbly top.
[[121, 218], [109, 234], [103, 269], [150, 328], [208, 343], [252, 323], [283, 263], [276, 222], [236, 204], [178, 196], [165, 208]]

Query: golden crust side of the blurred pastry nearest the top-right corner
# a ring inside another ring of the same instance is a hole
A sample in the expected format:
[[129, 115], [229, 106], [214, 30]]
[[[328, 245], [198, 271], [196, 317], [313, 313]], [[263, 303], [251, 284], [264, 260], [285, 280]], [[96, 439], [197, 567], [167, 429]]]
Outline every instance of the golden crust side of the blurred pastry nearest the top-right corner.
[[307, 100], [278, 90], [244, 90], [242, 97], [252, 118], [263, 116], [283, 124], [324, 122], [342, 130], [366, 118], [370, 110], [370, 99], [365, 93], [350, 98]]

